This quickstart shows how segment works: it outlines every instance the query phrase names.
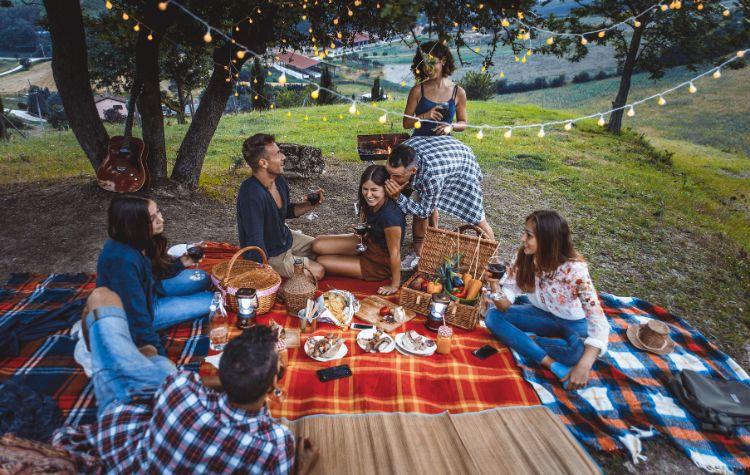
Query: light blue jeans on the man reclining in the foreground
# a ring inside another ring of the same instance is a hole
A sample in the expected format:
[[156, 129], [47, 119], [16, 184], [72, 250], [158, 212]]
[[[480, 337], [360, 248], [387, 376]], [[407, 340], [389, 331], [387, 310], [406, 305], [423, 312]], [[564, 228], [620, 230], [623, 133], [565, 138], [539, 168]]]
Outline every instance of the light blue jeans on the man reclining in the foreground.
[[99, 416], [111, 405], [153, 396], [164, 378], [177, 371], [164, 356], [146, 357], [138, 351], [122, 308], [97, 308], [86, 316], [85, 325]]

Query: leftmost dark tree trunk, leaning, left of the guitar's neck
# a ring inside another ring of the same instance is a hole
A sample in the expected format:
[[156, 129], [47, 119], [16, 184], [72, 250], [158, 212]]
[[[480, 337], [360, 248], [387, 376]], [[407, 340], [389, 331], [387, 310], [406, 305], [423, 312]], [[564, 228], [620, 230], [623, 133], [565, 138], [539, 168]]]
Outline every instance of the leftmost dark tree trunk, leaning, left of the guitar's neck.
[[91, 93], [88, 51], [78, 0], [44, 0], [52, 39], [52, 76], [70, 128], [94, 170], [107, 155], [109, 135]]

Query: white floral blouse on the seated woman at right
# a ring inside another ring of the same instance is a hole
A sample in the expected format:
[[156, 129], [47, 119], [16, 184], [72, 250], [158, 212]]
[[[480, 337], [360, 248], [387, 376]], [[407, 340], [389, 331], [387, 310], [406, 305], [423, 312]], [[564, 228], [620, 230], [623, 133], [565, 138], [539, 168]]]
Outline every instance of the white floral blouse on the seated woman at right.
[[[500, 280], [502, 291], [511, 302], [515, 302], [518, 296], [525, 293], [516, 283], [514, 264], [515, 260]], [[586, 318], [589, 335], [584, 344], [599, 348], [599, 356], [606, 353], [609, 323], [599, 304], [599, 297], [585, 261], [569, 260], [554, 272], [545, 273], [541, 277], [537, 275], [534, 292], [526, 296], [532, 305], [556, 317], [565, 320]]]

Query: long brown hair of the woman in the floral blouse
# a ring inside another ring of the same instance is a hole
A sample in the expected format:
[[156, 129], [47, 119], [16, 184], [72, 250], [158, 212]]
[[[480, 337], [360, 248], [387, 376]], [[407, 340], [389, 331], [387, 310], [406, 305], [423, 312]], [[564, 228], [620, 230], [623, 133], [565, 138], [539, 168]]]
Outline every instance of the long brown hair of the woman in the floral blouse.
[[525, 223], [532, 223], [536, 235], [536, 253], [526, 255], [523, 246], [516, 254], [516, 283], [524, 292], [533, 292], [535, 277], [553, 272], [568, 260], [581, 260], [573, 247], [570, 228], [560, 213], [553, 210], [534, 211]]

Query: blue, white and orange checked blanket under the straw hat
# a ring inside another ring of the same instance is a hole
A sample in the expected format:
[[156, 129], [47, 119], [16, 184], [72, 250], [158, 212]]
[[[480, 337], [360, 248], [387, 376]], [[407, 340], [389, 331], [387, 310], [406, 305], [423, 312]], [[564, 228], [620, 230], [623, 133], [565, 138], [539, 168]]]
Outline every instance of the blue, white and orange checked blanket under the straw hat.
[[[670, 375], [683, 369], [750, 383], [747, 373], [700, 332], [663, 308], [637, 298], [599, 297], [612, 333], [609, 351], [596, 362], [584, 389], [563, 390], [551, 372], [514, 352], [542, 404], [591, 449], [626, 449], [634, 463], [646, 459], [641, 439], [663, 435], [700, 468], [713, 473], [750, 471], [750, 431], [741, 429], [732, 438], [702, 431], [666, 386]], [[625, 335], [628, 325], [652, 318], [671, 326], [670, 335], [677, 343], [673, 353], [658, 356], [630, 344]]]

